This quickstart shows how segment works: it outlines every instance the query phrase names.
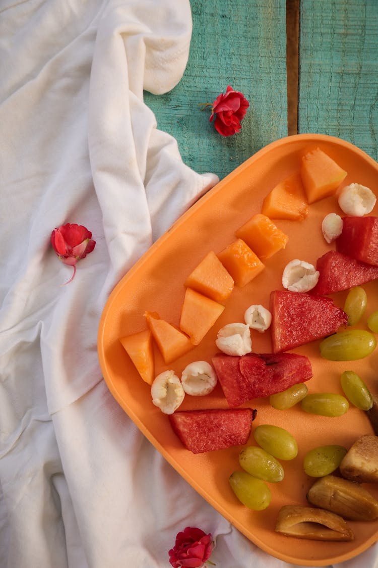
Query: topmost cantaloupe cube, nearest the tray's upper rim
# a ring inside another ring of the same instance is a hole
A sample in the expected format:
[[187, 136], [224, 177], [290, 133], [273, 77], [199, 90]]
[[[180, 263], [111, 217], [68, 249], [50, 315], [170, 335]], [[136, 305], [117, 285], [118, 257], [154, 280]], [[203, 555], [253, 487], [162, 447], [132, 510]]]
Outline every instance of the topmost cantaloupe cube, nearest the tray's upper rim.
[[333, 195], [347, 172], [332, 158], [316, 148], [302, 157], [300, 175], [308, 203]]

